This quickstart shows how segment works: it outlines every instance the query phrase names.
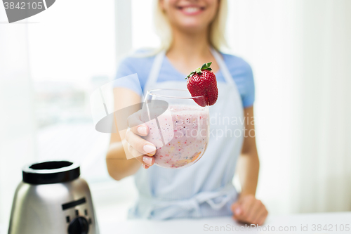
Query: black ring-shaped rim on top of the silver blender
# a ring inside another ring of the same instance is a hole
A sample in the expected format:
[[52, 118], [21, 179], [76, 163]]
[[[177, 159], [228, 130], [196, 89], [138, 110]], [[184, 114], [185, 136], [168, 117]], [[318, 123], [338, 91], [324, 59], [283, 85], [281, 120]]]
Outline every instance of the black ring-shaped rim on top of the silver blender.
[[36, 185], [73, 181], [81, 174], [79, 164], [68, 161], [46, 161], [22, 169], [22, 180]]

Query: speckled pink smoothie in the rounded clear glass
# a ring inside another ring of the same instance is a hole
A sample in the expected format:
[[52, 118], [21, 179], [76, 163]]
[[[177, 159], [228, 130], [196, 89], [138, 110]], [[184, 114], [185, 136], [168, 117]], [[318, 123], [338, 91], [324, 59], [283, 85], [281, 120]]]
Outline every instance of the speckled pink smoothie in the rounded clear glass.
[[154, 120], [146, 122], [150, 133], [144, 137], [157, 147], [155, 164], [176, 169], [197, 162], [208, 143], [208, 109], [192, 105], [170, 105], [157, 119], [161, 133]]

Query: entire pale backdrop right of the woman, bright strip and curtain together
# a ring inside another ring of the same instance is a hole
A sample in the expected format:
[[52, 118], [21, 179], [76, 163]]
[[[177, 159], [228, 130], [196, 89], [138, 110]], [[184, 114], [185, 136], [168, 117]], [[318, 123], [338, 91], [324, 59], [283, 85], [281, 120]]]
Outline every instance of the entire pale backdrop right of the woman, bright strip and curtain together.
[[229, 3], [256, 82], [258, 197], [272, 214], [351, 210], [351, 2]]

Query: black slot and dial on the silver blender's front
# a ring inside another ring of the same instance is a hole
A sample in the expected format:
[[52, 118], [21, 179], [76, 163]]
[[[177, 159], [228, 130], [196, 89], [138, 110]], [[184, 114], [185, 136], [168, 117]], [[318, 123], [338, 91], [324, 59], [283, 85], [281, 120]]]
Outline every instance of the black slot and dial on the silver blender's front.
[[[73, 209], [85, 203], [86, 198], [83, 197], [79, 200], [62, 204], [62, 210]], [[74, 214], [66, 216], [66, 223], [68, 224], [68, 234], [88, 234], [92, 220], [89, 217], [88, 209], [74, 209]]]

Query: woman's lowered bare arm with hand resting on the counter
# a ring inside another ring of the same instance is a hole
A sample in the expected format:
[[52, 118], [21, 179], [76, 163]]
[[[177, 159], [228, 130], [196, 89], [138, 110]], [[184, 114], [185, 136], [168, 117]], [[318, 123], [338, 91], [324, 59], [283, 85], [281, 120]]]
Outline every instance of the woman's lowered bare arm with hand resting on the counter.
[[241, 193], [232, 204], [233, 218], [244, 223], [262, 225], [267, 218], [265, 205], [255, 197], [260, 161], [256, 148], [253, 107], [244, 109], [245, 134], [238, 169]]

